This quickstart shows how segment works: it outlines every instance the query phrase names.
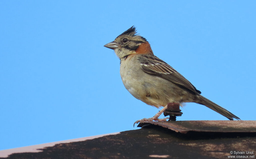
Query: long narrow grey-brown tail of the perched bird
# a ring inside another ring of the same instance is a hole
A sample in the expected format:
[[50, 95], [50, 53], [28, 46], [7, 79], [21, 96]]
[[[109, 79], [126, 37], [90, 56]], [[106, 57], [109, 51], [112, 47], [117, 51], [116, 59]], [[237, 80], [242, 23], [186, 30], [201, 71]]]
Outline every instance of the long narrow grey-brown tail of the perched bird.
[[216, 111], [217, 113], [220, 113], [221, 115], [223, 115], [224, 117], [228, 118], [229, 120], [233, 120], [233, 118], [235, 118], [237, 120], [240, 120], [239, 117], [235, 116], [233, 113], [231, 113], [227, 109], [222, 108], [218, 104], [210, 101], [209, 99], [205, 98], [202, 95], [200, 95], [196, 99], [195, 103], [198, 103], [198, 104], [201, 104], [201, 105], [205, 105], [206, 107], [210, 108], [211, 110]]

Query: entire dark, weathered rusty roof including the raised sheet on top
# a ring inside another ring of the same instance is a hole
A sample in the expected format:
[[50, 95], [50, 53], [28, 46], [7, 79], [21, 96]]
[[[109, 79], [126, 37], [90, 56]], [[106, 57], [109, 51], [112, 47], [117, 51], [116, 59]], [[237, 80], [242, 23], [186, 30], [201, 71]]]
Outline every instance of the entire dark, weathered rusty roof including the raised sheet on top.
[[[256, 121], [146, 122], [141, 123], [142, 125], [142, 129], [138, 130], [123, 131], [85, 141], [59, 143], [41, 148], [40, 152], [13, 153], [7, 158], [226, 159], [232, 155], [232, 158], [244, 158], [249, 155], [255, 158]], [[38, 149], [36, 145], [34, 148]], [[253, 154], [234, 155], [234, 152], [246, 151]]]

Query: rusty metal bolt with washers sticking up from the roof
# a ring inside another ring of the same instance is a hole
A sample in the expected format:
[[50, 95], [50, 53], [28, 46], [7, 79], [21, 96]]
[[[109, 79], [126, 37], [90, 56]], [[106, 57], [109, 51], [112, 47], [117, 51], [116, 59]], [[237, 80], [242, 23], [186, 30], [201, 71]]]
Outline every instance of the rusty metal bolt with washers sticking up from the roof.
[[176, 117], [183, 114], [180, 111], [179, 103], [168, 103], [167, 109], [164, 110], [164, 116], [170, 116], [168, 121], [176, 121]]

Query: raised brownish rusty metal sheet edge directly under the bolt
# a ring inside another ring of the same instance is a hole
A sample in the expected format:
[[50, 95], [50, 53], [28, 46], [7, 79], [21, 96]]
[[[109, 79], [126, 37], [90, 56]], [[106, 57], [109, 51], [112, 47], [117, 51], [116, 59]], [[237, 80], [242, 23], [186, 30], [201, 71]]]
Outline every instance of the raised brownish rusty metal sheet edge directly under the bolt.
[[142, 122], [138, 127], [146, 124], [154, 124], [170, 130], [188, 133], [188, 132], [256, 132], [255, 120], [190, 120], [190, 121], [147, 121]]

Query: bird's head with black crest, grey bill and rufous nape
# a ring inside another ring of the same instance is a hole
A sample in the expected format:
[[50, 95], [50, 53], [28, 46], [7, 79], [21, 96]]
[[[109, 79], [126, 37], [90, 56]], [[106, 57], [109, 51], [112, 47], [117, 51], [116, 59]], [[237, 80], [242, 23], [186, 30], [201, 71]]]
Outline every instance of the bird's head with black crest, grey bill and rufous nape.
[[153, 55], [148, 41], [136, 33], [136, 28], [132, 26], [116, 37], [114, 41], [105, 44], [104, 47], [113, 49], [119, 59], [134, 53]]

